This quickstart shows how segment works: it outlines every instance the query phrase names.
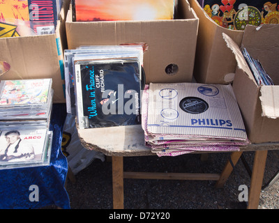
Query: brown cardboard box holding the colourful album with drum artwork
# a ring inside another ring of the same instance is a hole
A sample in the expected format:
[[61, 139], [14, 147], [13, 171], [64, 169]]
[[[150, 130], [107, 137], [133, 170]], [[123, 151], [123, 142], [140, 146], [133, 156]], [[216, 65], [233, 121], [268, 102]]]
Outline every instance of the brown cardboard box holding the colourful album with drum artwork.
[[197, 52], [194, 77], [204, 84], [228, 84], [234, 79], [236, 60], [226, 47], [222, 33], [226, 33], [240, 45], [243, 31], [230, 30], [211, 20], [197, 0], [189, 0], [190, 6], [199, 17]]

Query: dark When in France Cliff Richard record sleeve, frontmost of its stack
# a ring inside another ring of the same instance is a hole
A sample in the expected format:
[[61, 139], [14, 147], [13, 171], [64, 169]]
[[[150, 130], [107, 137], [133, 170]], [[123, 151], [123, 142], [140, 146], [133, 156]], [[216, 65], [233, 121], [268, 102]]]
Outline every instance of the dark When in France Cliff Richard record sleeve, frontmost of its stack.
[[77, 61], [79, 128], [140, 124], [140, 68], [134, 59]]

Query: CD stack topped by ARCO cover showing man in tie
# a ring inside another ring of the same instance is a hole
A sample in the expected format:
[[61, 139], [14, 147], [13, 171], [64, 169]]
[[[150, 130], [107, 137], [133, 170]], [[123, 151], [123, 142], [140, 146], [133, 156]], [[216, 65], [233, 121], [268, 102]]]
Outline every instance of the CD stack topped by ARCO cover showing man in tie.
[[50, 164], [52, 131], [3, 130], [0, 135], [0, 169]]

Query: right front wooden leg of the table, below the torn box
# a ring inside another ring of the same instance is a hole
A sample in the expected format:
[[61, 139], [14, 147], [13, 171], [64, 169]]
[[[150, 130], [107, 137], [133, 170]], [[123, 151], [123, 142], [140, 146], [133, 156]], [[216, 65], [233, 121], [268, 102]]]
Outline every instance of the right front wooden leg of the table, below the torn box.
[[259, 196], [262, 190], [262, 180], [264, 179], [266, 157], [267, 151], [255, 151], [249, 190], [248, 209], [257, 209], [259, 206]]

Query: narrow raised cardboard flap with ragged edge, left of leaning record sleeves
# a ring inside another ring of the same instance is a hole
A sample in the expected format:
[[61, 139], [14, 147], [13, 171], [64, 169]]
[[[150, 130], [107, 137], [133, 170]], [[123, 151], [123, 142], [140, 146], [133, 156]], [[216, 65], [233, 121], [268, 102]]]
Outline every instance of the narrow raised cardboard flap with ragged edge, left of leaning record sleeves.
[[250, 71], [246, 60], [244, 59], [241, 50], [239, 49], [239, 45], [237, 45], [234, 40], [232, 40], [232, 38], [230, 38], [229, 36], [227, 36], [226, 33], [223, 33], [223, 38], [225, 40], [225, 42], [227, 43], [227, 47], [229, 47], [229, 49], [232, 49], [232, 52], [234, 53], [235, 57], [236, 57], [236, 62], [237, 65], [239, 66], [239, 68], [241, 70], [243, 70], [244, 72], [246, 72], [246, 74], [249, 77], [252, 77], [252, 72]]

